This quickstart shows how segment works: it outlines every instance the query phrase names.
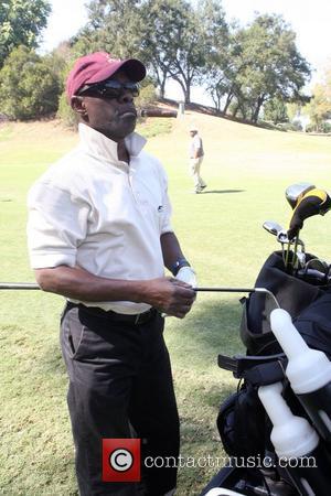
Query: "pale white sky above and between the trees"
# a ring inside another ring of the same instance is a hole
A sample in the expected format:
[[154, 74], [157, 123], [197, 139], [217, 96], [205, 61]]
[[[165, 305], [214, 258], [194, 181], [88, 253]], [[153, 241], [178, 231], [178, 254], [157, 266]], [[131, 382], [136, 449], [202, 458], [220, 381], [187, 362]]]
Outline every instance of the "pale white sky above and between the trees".
[[[87, 20], [86, 0], [52, 0], [51, 3], [53, 12], [43, 32], [43, 52], [75, 34]], [[255, 12], [282, 14], [297, 33], [300, 54], [312, 66], [312, 84], [322, 77], [323, 67], [331, 62], [331, 0], [222, 0], [222, 6], [227, 21], [236, 19], [242, 25], [250, 22]], [[168, 85], [168, 96], [182, 98], [177, 83]], [[192, 100], [202, 99], [201, 88], [193, 89]]]

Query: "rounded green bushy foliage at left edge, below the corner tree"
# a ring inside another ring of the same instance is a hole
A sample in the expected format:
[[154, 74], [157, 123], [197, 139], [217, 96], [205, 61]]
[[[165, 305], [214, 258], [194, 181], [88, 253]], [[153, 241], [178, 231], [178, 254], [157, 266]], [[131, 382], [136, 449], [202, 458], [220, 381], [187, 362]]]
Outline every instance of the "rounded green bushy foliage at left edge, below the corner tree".
[[47, 116], [57, 108], [58, 82], [47, 61], [24, 46], [14, 48], [0, 71], [1, 112], [13, 119]]

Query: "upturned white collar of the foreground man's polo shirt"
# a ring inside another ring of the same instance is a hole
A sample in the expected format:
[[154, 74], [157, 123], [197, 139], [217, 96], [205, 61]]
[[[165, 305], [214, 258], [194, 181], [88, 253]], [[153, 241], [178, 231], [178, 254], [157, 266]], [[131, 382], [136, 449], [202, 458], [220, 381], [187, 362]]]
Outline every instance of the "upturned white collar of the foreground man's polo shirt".
[[[90, 128], [89, 126], [79, 122], [78, 126], [81, 147], [94, 157], [110, 161], [111, 163], [121, 163], [117, 155], [117, 142], [110, 140], [106, 136]], [[126, 139], [125, 143], [130, 157], [137, 157], [147, 140], [137, 132], [131, 132]]]

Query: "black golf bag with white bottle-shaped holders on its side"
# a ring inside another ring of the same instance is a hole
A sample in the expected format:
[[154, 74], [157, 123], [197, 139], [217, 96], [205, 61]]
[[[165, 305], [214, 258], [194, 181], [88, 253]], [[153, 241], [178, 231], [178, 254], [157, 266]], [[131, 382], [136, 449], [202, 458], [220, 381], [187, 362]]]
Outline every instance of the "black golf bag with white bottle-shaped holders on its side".
[[[307, 257], [313, 258], [311, 255]], [[330, 359], [331, 285], [321, 283], [313, 277], [305, 280], [287, 273], [281, 252], [276, 251], [266, 260], [255, 288], [266, 288], [273, 292], [280, 308], [291, 315], [308, 346], [322, 351]], [[318, 466], [306, 468], [310, 471], [311, 486], [305, 484], [305, 476], [301, 476], [300, 471], [298, 476], [293, 476], [293, 471], [279, 464], [270, 441], [273, 424], [259, 399], [258, 388], [281, 382], [282, 397], [291, 412], [306, 418], [310, 424], [312, 421], [285, 375], [287, 357], [269, 323], [275, 301], [266, 293], [254, 292], [241, 302], [241, 337], [247, 354], [233, 358], [218, 356], [220, 367], [231, 370], [241, 380], [237, 392], [223, 402], [217, 417], [218, 432], [229, 462], [215, 475], [201, 496], [331, 494], [331, 444], [323, 439], [319, 442], [321, 454]]]

